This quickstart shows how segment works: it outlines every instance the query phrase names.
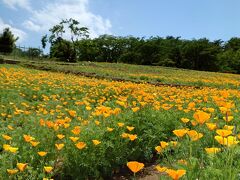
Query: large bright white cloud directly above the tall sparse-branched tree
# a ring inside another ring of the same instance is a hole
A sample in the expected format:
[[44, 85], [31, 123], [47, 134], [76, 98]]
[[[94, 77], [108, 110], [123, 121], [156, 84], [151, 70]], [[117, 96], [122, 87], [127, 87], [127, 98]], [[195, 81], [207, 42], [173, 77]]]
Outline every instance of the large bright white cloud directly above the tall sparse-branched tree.
[[31, 18], [23, 23], [25, 28], [31, 31], [46, 32], [62, 19], [73, 18], [90, 29], [91, 37], [111, 33], [111, 22], [90, 12], [88, 0], [54, 0], [32, 13]]

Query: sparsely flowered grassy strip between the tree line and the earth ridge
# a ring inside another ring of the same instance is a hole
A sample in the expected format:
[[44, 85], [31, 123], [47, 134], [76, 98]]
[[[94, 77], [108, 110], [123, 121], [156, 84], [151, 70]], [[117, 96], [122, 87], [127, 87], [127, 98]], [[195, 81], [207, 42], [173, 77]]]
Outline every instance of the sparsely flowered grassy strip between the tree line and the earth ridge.
[[133, 82], [150, 82], [171, 85], [212, 86], [238, 88], [240, 75], [195, 71], [160, 66], [129, 65], [122, 63], [79, 62], [63, 63], [51, 61], [23, 61], [21, 65], [36, 69], [80, 74], [90, 77]]

